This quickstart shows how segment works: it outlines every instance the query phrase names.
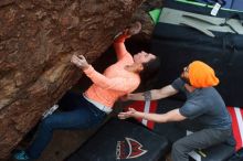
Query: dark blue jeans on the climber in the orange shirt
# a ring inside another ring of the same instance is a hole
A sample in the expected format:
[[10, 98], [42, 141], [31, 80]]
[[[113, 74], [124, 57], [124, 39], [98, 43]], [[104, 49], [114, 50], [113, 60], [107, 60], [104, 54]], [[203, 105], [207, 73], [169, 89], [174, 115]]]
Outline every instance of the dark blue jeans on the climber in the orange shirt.
[[70, 106], [70, 111], [56, 111], [43, 119], [32, 144], [27, 149], [31, 159], [38, 159], [52, 139], [53, 130], [88, 129], [102, 124], [106, 114], [87, 101], [83, 95], [67, 93], [59, 104]]

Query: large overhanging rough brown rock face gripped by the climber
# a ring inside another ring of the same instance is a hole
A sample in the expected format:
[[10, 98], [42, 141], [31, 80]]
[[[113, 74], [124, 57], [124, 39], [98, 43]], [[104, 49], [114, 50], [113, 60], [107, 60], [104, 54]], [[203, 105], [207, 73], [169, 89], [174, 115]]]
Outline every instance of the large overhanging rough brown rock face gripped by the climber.
[[96, 60], [141, 2], [0, 1], [0, 159], [81, 77], [71, 55]]

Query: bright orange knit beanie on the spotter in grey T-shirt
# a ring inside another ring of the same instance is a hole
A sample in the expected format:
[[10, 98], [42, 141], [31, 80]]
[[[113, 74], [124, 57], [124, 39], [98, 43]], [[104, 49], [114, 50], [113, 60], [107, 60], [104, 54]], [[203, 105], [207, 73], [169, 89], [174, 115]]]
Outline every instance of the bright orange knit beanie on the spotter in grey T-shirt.
[[201, 61], [189, 64], [189, 80], [196, 88], [211, 87], [219, 84], [213, 68]]

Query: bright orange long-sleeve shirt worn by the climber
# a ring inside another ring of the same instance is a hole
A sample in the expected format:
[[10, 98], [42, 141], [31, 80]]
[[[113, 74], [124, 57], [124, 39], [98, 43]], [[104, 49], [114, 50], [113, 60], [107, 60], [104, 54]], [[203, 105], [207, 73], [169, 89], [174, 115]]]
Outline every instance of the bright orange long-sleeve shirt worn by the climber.
[[140, 77], [136, 73], [126, 71], [126, 65], [134, 63], [133, 56], [127, 52], [124, 44], [126, 35], [119, 35], [114, 47], [117, 53], [117, 63], [107, 67], [104, 74], [96, 72], [91, 65], [84, 73], [94, 83], [85, 96], [106, 107], [113, 107], [114, 103], [126, 94], [134, 92], [140, 84]]

